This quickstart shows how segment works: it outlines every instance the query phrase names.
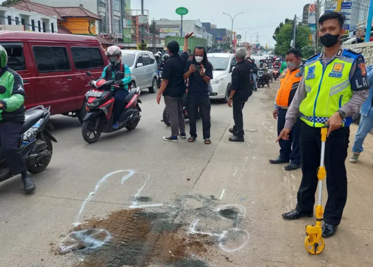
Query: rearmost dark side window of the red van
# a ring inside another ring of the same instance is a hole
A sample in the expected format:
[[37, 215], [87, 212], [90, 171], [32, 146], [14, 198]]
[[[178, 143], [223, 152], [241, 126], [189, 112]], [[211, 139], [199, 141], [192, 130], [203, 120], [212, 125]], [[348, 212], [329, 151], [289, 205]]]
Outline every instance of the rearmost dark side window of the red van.
[[97, 47], [72, 47], [73, 60], [77, 70], [103, 68], [103, 58]]

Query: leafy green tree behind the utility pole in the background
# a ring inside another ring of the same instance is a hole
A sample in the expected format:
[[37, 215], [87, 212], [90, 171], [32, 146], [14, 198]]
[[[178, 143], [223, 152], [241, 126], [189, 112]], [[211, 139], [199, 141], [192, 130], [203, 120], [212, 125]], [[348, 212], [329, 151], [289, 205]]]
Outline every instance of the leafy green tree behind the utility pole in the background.
[[[281, 26], [282, 24], [282, 26]], [[278, 29], [279, 28], [279, 29]], [[295, 35], [295, 47], [300, 49], [308, 46], [309, 27], [298, 25]], [[285, 24], [280, 23], [275, 30], [274, 39], [276, 40], [275, 53], [284, 56], [290, 48], [290, 42], [293, 38], [293, 20], [285, 19]]]

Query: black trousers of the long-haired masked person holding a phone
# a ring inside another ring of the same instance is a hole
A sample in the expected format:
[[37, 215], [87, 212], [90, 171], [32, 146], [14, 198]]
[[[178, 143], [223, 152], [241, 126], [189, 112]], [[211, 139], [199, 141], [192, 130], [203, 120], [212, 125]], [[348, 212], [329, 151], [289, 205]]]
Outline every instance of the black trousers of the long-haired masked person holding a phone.
[[211, 129], [211, 103], [208, 96], [204, 97], [188, 97], [187, 109], [189, 113], [189, 133], [190, 136], [197, 138], [197, 116], [199, 110], [199, 116], [202, 120], [202, 133], [203, 139], [210, 138]]

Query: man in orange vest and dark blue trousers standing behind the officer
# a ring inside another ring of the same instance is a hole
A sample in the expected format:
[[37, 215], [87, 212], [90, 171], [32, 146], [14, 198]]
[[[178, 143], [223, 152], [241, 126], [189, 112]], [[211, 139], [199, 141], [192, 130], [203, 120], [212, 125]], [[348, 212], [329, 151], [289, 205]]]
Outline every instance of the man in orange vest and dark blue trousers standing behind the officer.
[[[300, 52], [296, 48], [290, 48], [286, 53], [286, 69], [280, 76], [280, 87], [277, 91], [275, 109], [273, 117], [277, 120], [277, 133], [281, 133], [285, 126], [285, 116], [288, 107], [293, 100], [296, 90], [304, 72], [304, 65], [300, 60]], [[289, 163], [284, 168], [285, 170], [296, 170], [300, 168], [300, 120], [298, 118], [296, 124], [289, 134], [288, 140], [280, 140], [280, 156], [277, 159], [271, 159], [272, 164]]]

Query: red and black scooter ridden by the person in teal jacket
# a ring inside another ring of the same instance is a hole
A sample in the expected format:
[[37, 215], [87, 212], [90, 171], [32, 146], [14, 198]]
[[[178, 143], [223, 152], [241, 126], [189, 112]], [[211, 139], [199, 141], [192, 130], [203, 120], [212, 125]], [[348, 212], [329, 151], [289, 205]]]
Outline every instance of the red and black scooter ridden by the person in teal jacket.
[[[86, 74], [94, 79], [91, 72]], [[117, 72], [114, 80], [99, 79], [91, 82], [94, 89], [86, 93], [87, 115], [83, 119], [82, 135], [88, 143], [94, 143], [98, 140], [101, 133], [112, 133], [122, 128], [134, 130], [140, 121], [141, 109], [138, 103], [141, 103], [140, 89], [132, 89], [124, 100], [125, 108], [119, 117], [117, 129], [113, 129], [113, 107], [114, 91], [116, 90], [115, 81], [124, 77], [123, 72]], [[92, 136], [93, 135], [93, 136]]]

